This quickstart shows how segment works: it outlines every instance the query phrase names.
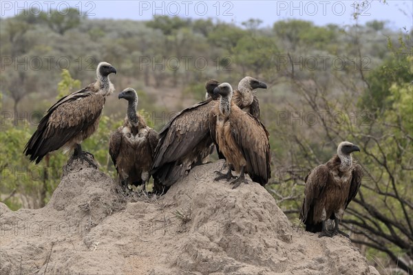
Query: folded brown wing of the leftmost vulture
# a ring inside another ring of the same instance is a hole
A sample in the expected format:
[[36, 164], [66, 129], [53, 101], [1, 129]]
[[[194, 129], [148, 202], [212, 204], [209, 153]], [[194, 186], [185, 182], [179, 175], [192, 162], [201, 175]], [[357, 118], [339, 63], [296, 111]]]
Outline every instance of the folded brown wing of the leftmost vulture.
[[91, 89], [89, 85], [65, 96], [47, 110], [23, 151], [31, 161], [39, 163], [47, 153], [61, 148], [96, 122], [105, 98]]

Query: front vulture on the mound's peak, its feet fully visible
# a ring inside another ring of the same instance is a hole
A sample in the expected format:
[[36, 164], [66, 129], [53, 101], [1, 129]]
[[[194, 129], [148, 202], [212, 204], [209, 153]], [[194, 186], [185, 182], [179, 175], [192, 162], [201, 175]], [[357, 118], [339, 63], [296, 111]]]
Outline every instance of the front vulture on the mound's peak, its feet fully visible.
[[271, 152], [265, 126], [231, 100], [233, 90], [229, 83], [218, 85], [213, 92], [220, 95], [220, 101], [210, 112], [209, 127], [213, 140], [229, 164], [228, 173], [215, 171], [220, 174], [215, 180], [230, 180], [233, 178], [231, 170], [235, 170], [240, 176], [231, 182], [233, 188], [242, 182], [248, 184], [244, 173], [264, 186], [271, 177]]

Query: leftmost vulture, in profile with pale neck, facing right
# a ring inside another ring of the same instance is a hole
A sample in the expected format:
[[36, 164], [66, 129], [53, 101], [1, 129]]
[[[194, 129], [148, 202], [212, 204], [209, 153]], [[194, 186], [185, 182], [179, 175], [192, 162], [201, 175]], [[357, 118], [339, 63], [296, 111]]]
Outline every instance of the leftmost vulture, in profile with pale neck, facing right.
[[114, 85], [109, 74], [116, 74], [116, 69], [106, 62], [98, 64], [96, 82], [76, 91], [56, 102], [40, 120], [36, 131], [25, 145], [23, 153], [30, 156], [30, 161], [38, 164], [52, 151], [63, 148], [65, 152], [74, 149], [74, 158], [85, 159], [81, 142], [98, 129], [105, 98], [114, 92]]

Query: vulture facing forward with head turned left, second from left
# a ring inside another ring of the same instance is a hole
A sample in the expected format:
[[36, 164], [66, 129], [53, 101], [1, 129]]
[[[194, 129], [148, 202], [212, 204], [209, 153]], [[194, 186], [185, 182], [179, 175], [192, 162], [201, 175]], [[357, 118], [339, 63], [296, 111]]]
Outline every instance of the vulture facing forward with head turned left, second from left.
[[138, 95], [132, 88], [124, 89], [118, 96], [127, 100], [127, 115], [120, 126], [109, 138], [109, 155], [118, 171], [120, 183], [140, 186], [149, 181], [150, 169], [158, 144], [158, 133], [145, 123], [136, 113]]

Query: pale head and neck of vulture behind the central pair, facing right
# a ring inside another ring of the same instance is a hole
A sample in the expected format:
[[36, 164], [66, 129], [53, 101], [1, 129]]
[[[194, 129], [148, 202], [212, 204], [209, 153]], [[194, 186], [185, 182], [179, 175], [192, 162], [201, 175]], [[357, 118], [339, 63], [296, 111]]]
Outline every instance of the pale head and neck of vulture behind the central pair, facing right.
[[266, 89], [267, 86], [251, 76], [246, 76], [238, 83], [238, 89], [233, 91], [232, 100], [242, 111], [251, 113], [254, 118], [260, 119], [260, 100], [255, 94], [258, 88]]

